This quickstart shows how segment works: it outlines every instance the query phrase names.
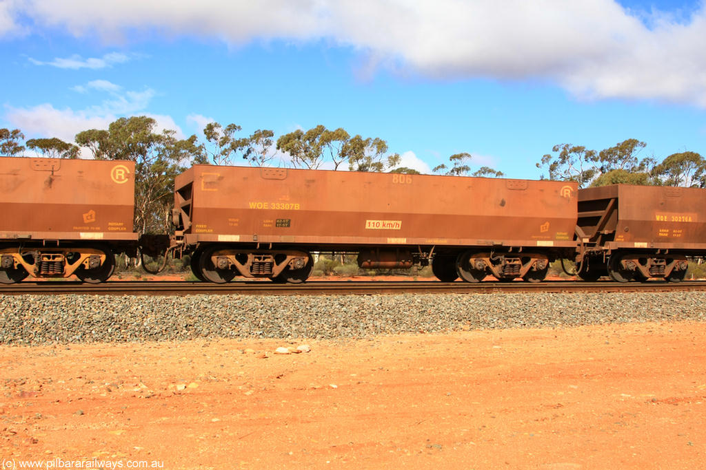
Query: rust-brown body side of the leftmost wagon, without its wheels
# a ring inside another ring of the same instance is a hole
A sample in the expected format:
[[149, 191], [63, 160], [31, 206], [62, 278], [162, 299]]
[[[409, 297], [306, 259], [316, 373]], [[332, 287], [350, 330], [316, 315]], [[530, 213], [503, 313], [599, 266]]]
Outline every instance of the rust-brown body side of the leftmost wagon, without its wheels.
[[130, 161], [0, 158], [0, 239], [136, 240]]

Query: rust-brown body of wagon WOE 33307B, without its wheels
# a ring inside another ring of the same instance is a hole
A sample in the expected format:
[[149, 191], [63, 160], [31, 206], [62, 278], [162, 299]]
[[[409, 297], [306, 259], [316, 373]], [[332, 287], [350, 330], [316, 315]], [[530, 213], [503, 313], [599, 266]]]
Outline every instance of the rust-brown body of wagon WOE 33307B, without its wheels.
[[282, 168], [191, 171], [177, 180], [177, 192], [192, 185], [191, 226], [184, 230], [191, 240], [573, 245], [573, 183]]

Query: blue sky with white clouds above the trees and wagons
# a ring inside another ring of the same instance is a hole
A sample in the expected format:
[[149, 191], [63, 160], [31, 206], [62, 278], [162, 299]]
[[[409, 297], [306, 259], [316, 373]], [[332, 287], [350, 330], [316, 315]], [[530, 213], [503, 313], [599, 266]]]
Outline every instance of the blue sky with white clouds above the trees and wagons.
[[0, 0], [0, 60], [0, 128], [27, 138], [323, 124], [510, 178], [561, 143], [706, 155], [701, 1]]

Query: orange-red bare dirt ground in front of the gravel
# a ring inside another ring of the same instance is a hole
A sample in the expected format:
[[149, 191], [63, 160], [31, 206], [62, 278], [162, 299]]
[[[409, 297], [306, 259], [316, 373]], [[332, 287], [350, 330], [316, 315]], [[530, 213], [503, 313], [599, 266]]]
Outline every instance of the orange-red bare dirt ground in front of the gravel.
[[706, 323], [299, 344], [0, 347], [4, 470], [706, 467]]

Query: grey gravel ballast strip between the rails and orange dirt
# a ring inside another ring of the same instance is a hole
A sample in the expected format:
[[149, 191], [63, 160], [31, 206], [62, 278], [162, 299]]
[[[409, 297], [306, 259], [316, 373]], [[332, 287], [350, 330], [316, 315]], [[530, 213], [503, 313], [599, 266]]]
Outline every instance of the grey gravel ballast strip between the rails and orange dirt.
[[705, 292], [181, 297], [0, 295], [0, 344], [365, 338], [706, 321]]

